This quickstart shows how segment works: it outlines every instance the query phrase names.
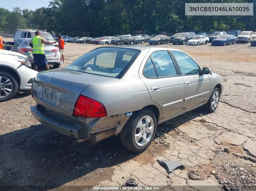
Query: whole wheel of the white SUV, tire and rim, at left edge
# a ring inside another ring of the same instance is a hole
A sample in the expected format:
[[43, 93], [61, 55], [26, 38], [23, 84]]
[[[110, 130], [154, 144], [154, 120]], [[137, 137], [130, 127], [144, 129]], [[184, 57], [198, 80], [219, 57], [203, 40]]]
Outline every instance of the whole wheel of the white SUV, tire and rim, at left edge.
[[18, 92], [18, 82], [9, 72], [0, 71], [0, 102], [12, 99]]

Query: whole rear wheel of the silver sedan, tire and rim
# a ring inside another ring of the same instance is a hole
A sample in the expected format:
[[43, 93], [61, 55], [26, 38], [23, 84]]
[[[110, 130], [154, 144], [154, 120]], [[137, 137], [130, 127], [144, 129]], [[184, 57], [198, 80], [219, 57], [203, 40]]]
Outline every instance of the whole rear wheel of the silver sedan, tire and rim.
[[130, 151], [143, 152], [153, 141], [156, 127], [156, 117], [151, 110], [136, 111], [120, 133], [121, 142]]

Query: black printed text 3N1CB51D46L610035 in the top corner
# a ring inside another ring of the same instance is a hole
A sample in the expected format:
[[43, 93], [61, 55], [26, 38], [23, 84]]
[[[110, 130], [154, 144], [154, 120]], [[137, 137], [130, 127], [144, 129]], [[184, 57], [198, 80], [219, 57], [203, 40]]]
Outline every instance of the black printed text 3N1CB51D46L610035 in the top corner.
[[249, 7], [189, 7], [189, 11], [249, 11]]

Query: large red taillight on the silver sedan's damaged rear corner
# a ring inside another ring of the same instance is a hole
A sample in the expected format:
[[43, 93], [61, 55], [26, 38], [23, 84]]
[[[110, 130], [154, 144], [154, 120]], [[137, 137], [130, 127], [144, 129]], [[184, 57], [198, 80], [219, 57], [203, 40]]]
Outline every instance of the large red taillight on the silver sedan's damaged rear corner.
[[100, 102], [80, 95], [75, 103], [74, 115], [83, 117], [107, 116], [106, 108]]

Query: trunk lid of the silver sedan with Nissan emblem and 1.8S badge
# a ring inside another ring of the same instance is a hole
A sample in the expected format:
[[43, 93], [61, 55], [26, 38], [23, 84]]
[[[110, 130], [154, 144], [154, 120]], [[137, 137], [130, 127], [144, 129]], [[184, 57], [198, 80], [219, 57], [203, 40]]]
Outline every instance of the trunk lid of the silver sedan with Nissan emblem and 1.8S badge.
[[117, 78], [87, 74], [66, 69], [40, 72], [33, 83], [37, 103], [66, 115], [73, 115], [76, 100], [91, 84]]

